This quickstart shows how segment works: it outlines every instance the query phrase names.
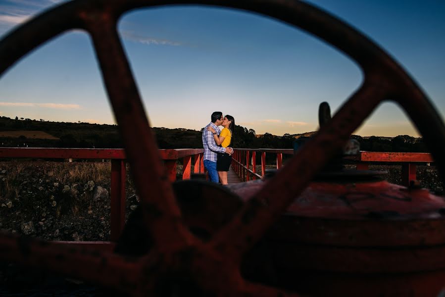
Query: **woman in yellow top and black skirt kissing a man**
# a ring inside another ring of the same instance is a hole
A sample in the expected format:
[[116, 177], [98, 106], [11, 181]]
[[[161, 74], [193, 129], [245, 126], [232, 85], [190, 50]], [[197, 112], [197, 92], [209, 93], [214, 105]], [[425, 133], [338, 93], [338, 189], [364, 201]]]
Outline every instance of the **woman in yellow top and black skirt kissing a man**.
[[[224, 128], [221, 133], [216, 135], [215, 129], [208, 127], [207, 130], [213, 133], [213, 138], [218, 146], [223, 148], [231, 147], [233, 141], [233, 131], [235, 130], [235, 119], [231, 115], [226, 115], [221, 124]], [[227, 172], [229, 171], [230, 163], [232, 163], [232, 154], [225, 152], [218, 152], [216, 159], [216, 170], [218, 170], [219, 180], [221, 184], [228, 185]]]

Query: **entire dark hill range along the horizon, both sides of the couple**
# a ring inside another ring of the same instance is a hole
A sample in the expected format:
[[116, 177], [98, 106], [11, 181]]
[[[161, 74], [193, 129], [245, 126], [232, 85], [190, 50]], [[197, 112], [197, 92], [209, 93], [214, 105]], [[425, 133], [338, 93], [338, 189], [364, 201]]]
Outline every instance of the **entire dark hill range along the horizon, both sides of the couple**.
[[[159, 148], [202, 148], [201, 131], [184, 128], [152, 128]], [[234, 148], [293, 148], [296, 139], [312, 137], [316, 131], [276, 136], [256, 134], [253, 129], [235, 126]], [[422, 138], [361, 137], [351, 135], [361, 150], [428, 152]], [[137, 143], [137, 140], [135, 140]], [[49, 122], [0, 117], [2, 147], [40, 148], [123, 148], [117, 125]]]

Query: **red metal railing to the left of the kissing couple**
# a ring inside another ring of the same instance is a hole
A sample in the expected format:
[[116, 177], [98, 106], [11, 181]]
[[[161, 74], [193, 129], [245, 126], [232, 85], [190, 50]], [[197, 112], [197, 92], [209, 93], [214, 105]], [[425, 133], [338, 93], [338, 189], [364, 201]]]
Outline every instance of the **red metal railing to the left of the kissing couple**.
[[[183, 179], [190, 179], [192, 156], [194, 173], [204, 173], [203, 149], [159, 149], [170, 181], [176, 180], [177, 160], [183, 159]], [[125, 223], [126, 156], [124, 149], [111, 148], [0, 148], [1, 158], [111, 159], [111, 241], [116, 241]], [[150, 170], [147, 168], [147, 170]]]

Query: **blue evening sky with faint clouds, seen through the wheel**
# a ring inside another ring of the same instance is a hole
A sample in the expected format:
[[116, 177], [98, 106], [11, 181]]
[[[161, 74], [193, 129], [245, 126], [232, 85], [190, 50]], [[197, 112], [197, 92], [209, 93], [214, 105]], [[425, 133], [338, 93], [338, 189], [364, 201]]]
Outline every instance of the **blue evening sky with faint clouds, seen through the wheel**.
[[[0, 38], [57, 0], [0, 0]], [[445, 112], [445, 1], [312, 0], [387, 50]], [[141, 9], [118, 30], [154, 127], [199, 130], [220, 110], [258, 134], [318, 127], [360, 85], [341, 52], [276, 20], [198, 6]], [[64, 33], [0, 79], [0, 115], [114, 123], [89, 36]], [[418, 136], [403, 111], [383, 103], [355, 132]]]

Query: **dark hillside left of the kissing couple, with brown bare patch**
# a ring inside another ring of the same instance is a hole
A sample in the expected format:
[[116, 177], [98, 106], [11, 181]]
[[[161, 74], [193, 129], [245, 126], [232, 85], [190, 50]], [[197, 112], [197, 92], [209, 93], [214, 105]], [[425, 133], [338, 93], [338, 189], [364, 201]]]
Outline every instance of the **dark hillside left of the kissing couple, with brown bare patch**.
[[[201, 132], [152, 128], [159, 148], [202, 148]], [[123, 148], [117, 125], [0, 117], [0, 145], [42, 148]]]

